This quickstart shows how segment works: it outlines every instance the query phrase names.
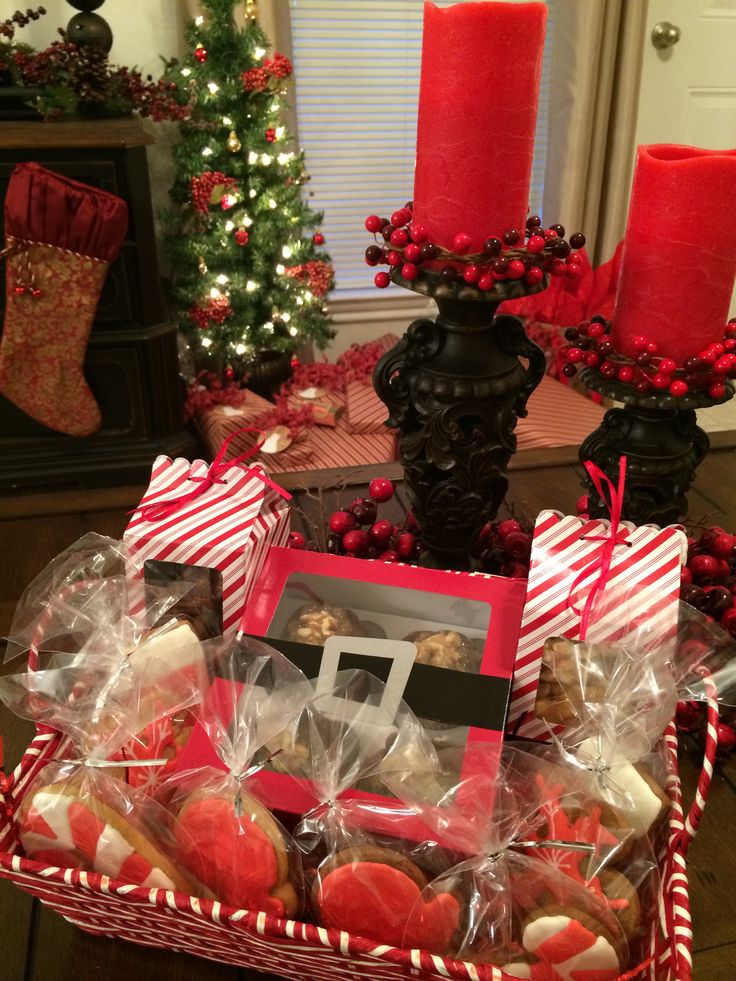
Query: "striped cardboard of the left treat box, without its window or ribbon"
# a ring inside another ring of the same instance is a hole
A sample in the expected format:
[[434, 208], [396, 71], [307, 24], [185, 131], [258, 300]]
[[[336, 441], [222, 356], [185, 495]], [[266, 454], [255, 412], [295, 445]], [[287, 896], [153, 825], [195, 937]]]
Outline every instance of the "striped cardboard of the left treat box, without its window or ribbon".
[[[197, 486], [207, 474], [203, 460], [159, 456], [144, 495], [146, 503], [169, 501]], [[236, 630], [243, 607], [272, 545], [289, 536], [289, 509], [259, 479], [259, 466], [229, 467], [222, 479], [165, 518], [147, 520], [136, 511], [123, 535], [142, 580], [149, 559], [218, 569], [222, 574], [223, 632]]]

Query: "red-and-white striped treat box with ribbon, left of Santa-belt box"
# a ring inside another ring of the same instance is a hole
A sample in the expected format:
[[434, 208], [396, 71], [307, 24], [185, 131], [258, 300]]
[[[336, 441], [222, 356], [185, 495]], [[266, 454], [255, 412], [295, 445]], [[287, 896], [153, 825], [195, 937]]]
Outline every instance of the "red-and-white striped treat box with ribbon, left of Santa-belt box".
[[227, 441], [209, 466], [159, 456], [123, 535], [135, 580], [183, 580], [193, 587], [184, 602], [210, 619], [215, 610], [212, 632], [225, 634], [237, 629], [269, 548], [289, 536], [289, 495], [259, 465], [224, 463], [226, 451]]

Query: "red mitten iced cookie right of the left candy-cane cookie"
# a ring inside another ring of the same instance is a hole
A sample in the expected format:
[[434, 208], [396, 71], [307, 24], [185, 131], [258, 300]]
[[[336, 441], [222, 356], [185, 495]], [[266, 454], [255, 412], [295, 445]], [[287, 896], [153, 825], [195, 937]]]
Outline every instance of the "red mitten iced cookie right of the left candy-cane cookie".
[[254, 797], [195, 791], [178, 812], [175, 834], [186, 869], [217, 899], [238, 909], [295, 916], [301, 903], [286, 832]]

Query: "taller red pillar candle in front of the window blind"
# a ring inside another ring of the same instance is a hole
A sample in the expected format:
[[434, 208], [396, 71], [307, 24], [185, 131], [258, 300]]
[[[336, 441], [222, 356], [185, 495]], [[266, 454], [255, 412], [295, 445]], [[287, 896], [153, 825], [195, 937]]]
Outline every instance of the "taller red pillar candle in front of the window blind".
[[452, 249], [523, 230], [547, 8], [543, 3], [424, 5], [414, 221]]

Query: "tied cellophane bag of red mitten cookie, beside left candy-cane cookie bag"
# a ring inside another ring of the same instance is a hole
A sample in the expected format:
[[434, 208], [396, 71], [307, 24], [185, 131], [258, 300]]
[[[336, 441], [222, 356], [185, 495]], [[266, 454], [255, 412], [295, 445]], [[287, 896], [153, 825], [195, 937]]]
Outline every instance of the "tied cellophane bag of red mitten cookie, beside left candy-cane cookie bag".
[[299, 851], [251, 777], [312, 687], [258, 640], [217, 637], [202, 647], [207, 671], [194, 713], [222, 768], [184, 770], [159, 788], [175, 818], [178, 860], [229, 906], [296, 917], [304, 900]]

